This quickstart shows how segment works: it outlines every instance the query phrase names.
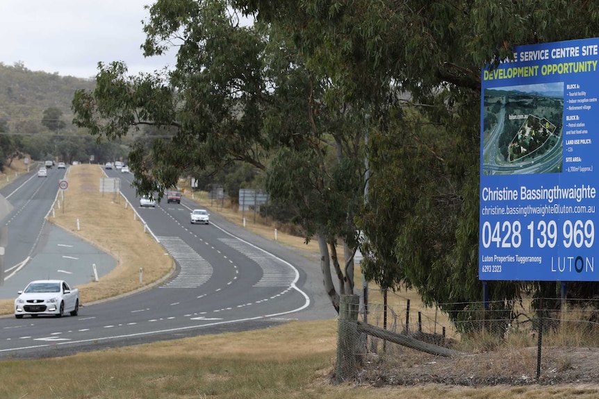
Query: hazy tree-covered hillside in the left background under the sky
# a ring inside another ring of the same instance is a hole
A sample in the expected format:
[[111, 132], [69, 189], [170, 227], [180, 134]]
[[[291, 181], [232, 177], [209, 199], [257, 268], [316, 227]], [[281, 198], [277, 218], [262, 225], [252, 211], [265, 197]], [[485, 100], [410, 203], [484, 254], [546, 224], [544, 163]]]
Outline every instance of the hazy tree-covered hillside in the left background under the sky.
[[93, 90], [95, 80], [31, 71], [0, 62], [0, 171], [26, 155], [56, 162], [124, 160], [130, 139], [97, 142], [72, 124], [76, 90]]

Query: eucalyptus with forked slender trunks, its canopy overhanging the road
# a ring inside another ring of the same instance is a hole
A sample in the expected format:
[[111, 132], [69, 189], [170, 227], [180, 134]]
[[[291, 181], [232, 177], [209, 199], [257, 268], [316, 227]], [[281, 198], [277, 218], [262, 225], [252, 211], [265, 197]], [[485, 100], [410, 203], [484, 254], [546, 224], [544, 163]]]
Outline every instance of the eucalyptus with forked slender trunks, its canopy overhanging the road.
[[[351, 292], [354, 213], [363, 189], [361, 103], [339, 96], [329, 76], [304, 65], [284, 29], [243, 26], [228, 6], [219, 0], [157, 1], [149, 8], [143, 48], [156, 56], [178, 46], [176, 68], [129, 76], [122, 62], [100, 64], [95, 90], [74, 96], [74, 123], [99, 140], [143, 126], [164, 131], [149, 150], [138, 142], [129, 154], [142, 193], [161, 195], [158, 187], [175, 185], [190, 167], [241, 161], [268, 171], [274, 198], [297, 210], [306, 239], [318, 238], [325, 291], [338, 309], [329, 250], [338, 289]], [[289, 160], [304, 164], [295, 171], [315, 178], [302, 186]], [[344, 266], [336, 254], [338, 237], [345, 243]]]

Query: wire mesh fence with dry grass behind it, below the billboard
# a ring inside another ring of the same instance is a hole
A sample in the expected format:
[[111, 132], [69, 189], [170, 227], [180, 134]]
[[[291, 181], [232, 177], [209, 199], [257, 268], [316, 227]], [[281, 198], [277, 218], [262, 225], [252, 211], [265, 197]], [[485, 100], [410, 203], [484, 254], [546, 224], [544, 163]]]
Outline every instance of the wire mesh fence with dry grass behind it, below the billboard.
[[599, 377], [599, 368], [581, 377], [599, 356], [599, 300], [537, 299], [536, 306], [545, 304], [540, 309], [532, 304], [370, 303], [368, 328], [352, 308], [352, 320], [339, 319], [338, 339], [347, 345], [338, 351], [350, 353], [338, 353], [344, 364], [337, 365], [336, 380], [529, 384]]

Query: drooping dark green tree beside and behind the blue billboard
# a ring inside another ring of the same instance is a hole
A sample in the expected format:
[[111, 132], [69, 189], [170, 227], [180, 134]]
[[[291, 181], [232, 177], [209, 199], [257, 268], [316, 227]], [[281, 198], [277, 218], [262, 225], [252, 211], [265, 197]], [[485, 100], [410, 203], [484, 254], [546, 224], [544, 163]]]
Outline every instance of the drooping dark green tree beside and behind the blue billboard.
[[[306, 65], [320, 67], [343, 95], [362, 99], [366, 108], [393, 109], [391, 118], [372, 112], [377, 114], [373, 186], [358, 218], [373, 239], [365, 248], [373, 255], [363, 264], [365, 275], [382, 288], [416, 287], [427, 303], [448, 310], [454, 305], [444, 303], [482, 299], [477, 280], [480, 70], [511, 58], [519, 44], [598, 35], [599, 5], [583, 0], [235, 4], [259, 21], [288, 29]], [[392, 93], [388, 85], [409, 93], [403, 106], [385, 101]], [[509, 308], [522, 288], [518, 282], [489, 284], [491, 298], [504, 300], [502, 308]], [[527, 288], [546, 293], [552, 287]]]

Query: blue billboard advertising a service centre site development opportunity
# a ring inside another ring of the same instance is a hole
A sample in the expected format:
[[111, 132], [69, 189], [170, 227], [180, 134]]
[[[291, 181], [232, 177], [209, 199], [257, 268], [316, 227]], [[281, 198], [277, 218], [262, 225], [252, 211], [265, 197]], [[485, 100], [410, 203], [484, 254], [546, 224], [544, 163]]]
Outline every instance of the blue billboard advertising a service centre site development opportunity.
[[599, 280], [598, 60], [594, 38], [482, 71], [480, 280]]

